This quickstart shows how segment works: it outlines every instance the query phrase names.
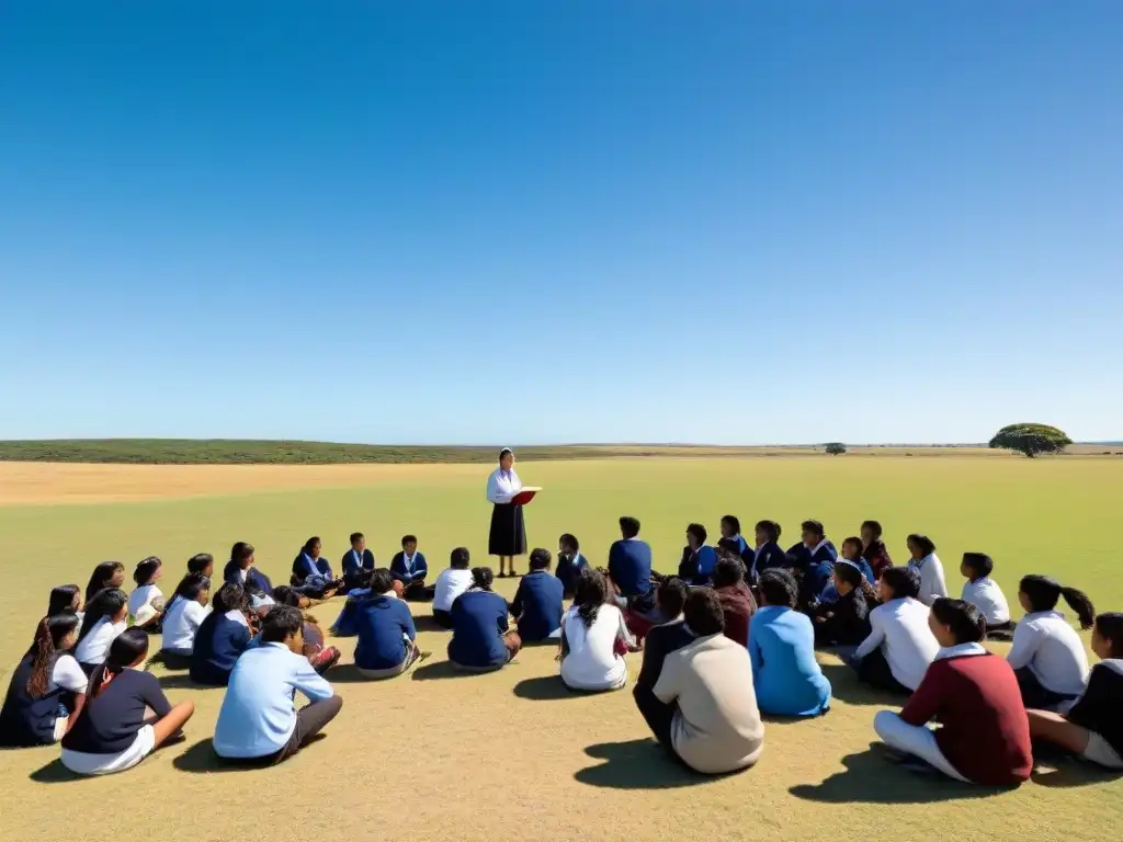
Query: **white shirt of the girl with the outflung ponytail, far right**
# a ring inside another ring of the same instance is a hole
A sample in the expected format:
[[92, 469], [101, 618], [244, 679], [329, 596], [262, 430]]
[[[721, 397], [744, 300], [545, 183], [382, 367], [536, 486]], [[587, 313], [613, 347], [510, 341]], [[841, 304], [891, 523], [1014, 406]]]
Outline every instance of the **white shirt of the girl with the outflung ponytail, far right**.
[[1022, 617], [1006, 660], [1014, 669], [1029, 667], [1041, 686], [1053, 693], [1078, 696], [1088, 684], [1088, 656], [1080, 635], [1056, 611]]

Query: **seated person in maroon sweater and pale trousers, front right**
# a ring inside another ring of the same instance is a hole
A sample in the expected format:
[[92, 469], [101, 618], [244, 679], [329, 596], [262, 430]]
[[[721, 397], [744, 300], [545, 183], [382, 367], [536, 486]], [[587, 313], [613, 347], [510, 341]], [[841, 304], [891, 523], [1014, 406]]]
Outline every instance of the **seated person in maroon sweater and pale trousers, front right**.
[[900, 715], [879, 711], [874, 716], [877, 735], [906, 758], [920, 758], [967, 784], [1028, 780], [1033, 770], [1030, 723], [1014, 671], [983, 648], [986, 620], [970, 603], [939, 598], [929, 623], [940, 651]]

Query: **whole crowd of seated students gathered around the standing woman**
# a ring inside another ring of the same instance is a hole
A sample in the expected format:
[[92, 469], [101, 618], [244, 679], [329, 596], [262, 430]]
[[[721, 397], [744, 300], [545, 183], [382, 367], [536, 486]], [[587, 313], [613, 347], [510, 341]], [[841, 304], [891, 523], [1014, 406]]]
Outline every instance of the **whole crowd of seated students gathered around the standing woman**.
[[[751, 767], [764, 749], [761, 714], [829, 712], [816, 648], [839, 655], [861, 681], [907, 697], [900, 713], [874, 717], [887, 758], [906, 768], [1016, 785], [1032, 771], [1033, 748], [1052, 747], [1123, 769], [1123, 614], [1096, 616], [1079, 591], [1025, 576], [1017, 593], [1025, 616], [1015, 624], [989, 556], [964, 555], [961, 598], [949, 598], [935, 544], [909, 536], [909, 561], [894, 566], [876, 521], [840, 551], [818, 521], [805, 521], [786, 551], [773, 521], [757, 523], [750, 543], [727, 515], [716, 546], [691, 524], [675, 576], [652, 570], [638, 520], [621, 518], [620, 531], [605, 568], [593, 567], [572, 534], [562, 536], [556, 566], [549, 551], [532, 550], [510, 603], [492, 591], [491, 568], [472, 568], [463, 547], [427, 584], [413, 536], [381, 568], [364, 536], [351, 534], [339, 577], [312, 538], [280, 587], [255, 566], [253, 546], [239, 542], [213, 595], [213, 558], [202, 553], [170, 600], [158, 558], [137, 565], [130, 595], [124, 567], [101, 564], [84, 600], [76, 585], [52, 591], [0, 711], [0, 744], [61, 742], [66, 768], [103, 775], [182, 739], [193, 704], [172, 705], [144, 669], [149, 634], [162, 632], [157, 657], [168, 667], [226, 687], [218, 757], [280, 762], [343, 706], [323, 677], [340, 652], [305, 610], [346, 594], [330, 633], [358, 638], [355, 666], [371, 679], [403, 675], [427, 657], [411, 601], [432, 602], [433, 621], [451, 630], [448, 658], [458, 671], [499, 670], [523, 644], [555, 641], [559, 680], [578, 693], [610, 692], [628, 680], [624, 656], [641, 651], [636, 705], [668, 756], [697, 772]], [[1101, 661], [1090, 672], [1079, 635], [1056, 611], [1061, 598], [1093, 630]], [[988, 652], [988, 637], [1012, 640], [1008, 656]], [[296, 690], [309, 699], [299, 710]]]

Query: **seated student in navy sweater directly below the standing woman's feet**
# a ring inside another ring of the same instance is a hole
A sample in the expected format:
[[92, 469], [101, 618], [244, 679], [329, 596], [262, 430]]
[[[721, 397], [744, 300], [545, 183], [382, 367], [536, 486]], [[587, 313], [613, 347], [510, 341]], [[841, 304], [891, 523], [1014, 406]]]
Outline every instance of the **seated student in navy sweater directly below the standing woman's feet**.
[[472, 587], [453, 603], [448, 660], [464, 672], [491, 672], [510, 663], [522, 648], [510, 631], [506, 600], [492, 592], [490, 567], [472, 568]]

